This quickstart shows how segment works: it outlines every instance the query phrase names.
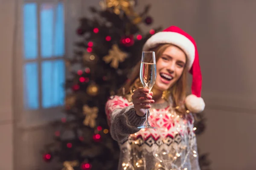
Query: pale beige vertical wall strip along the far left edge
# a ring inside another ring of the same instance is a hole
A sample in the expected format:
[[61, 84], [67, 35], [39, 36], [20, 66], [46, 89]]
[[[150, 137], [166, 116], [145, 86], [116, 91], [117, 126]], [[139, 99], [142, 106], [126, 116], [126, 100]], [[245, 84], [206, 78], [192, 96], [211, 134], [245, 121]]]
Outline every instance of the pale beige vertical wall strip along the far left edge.
[[14, 32], [13, 0], [0, 0], [0, 11], [0, 170], [12, 170], [12, 47]]

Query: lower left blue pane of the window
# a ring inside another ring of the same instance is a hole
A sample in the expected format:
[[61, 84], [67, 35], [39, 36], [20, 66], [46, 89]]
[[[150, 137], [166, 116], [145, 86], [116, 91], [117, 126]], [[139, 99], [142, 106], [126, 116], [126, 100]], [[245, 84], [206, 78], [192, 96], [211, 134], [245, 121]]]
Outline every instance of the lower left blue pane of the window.
[[38, 65], [35, 62], [26, 63], [23, 68], [24, 106], [26, 109], [39, 108]]

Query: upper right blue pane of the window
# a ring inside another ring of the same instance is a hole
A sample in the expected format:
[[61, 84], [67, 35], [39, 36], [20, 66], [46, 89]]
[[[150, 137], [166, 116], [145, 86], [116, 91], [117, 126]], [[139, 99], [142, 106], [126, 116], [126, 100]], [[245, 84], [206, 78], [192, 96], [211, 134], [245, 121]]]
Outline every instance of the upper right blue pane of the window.
[[45, 3], [41, 6], [41, 56], [63, 56], [64, 12], [63, 4]]

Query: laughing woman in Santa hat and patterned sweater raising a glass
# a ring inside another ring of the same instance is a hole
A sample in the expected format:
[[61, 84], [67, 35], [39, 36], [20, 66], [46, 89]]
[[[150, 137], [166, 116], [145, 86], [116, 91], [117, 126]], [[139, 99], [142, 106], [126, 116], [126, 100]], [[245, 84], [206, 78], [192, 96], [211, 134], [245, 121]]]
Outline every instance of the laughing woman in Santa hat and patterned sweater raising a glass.
[[[119, 170], [200, 170], [192, 113], [203, 111], [205, 104], [195, 41], [171, 26], [150, 37], [143, 51], [156, 53], [152, 91], [142, 87], [138, 63], [122, 94], [106, 103], [111, 136], [121, 149]], [[188, 71], [192, 94], [186, 96]], [[137, 128], [144, 124], [147, 108], [149, 124], [156, 129]]]

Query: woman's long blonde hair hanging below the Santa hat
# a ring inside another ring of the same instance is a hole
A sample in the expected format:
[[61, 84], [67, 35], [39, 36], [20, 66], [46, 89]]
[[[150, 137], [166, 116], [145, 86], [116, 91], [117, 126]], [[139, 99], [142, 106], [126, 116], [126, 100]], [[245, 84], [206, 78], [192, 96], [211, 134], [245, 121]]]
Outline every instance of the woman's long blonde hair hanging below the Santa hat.
[[[163, 52], [168, 48], [169, 46], [176, 46], [173, 44], [160, 44], [155, 48], [150, 49], [150, 51], [155, 51], [156, 56], [156, 62], [158, 59], [162, 56]], [[179, 48], [178, 46], [176, 46]], [[186, 57], [187, 60], [187, 57]], [[183, 114], [186, 112], [186, 108], [184, 105], [184, 101], [186, 98], [186, 92], [187, 92], [187, 72], [188, 68], [187, 65], [183, 69], [183, 73], [180, 76], [180, 78], [175, 82], [175, 84], [168, 89], [169, 97], [172, 97], [172, 107], [177, 107], [176, 112]], [[129, 76], [129, 81], [121, 88], [119, 89], [119, 95], [127, 95], [131, 93], [132, 88], [134, 88], [134, 84], [138, 81], [140, 77], [140, 62], [137, 63], [137, 65], [134, 67], [131, 75]], [[142, 85], [141, 85], [142, 87]], [[123, 91], [124, 88], [124, 91]], [[138, 87], [136, 87], [138, 88]]]

